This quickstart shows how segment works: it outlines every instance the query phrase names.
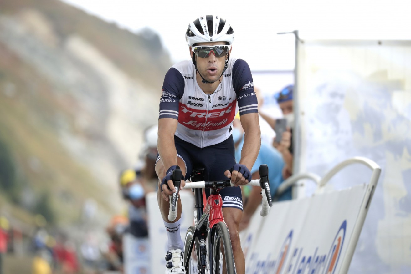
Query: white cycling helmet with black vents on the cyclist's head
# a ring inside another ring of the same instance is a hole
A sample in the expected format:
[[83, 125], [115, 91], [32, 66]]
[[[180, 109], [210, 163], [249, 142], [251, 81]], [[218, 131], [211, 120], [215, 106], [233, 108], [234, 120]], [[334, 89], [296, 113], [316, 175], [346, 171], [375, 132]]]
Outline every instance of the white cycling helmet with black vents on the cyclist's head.
[[230, 24], [217, 15], [200, 16], [189, 23], [185, 40], [189, 46], [204, 42], [233, 43], [234, 31]]

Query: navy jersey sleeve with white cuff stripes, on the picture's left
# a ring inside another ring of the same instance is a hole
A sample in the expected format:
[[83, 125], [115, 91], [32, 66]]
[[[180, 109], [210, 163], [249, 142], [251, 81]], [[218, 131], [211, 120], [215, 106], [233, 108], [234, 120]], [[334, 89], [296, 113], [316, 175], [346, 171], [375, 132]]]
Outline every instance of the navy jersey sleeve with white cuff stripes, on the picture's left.
[[170, 68], [164, 77], [158, 118], [178, 119], [178, 104], [184, 92], [184, 78], [181, 73]]

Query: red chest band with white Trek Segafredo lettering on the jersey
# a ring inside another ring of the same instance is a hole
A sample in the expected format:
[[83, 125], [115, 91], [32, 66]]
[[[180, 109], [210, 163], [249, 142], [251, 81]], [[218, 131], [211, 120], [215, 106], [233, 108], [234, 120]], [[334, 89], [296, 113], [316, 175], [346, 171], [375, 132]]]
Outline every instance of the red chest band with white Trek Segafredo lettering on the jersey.
[[[217, 130], [222, 129], [234, 120], [237, 100], [225, 106], [225, 108], [205, 110], [189, 107], [188, 104], [180, 103], [178, 122], [189, 129]], [[200, 105], [192, 103], [191, 105]], [[199, 106], [201, 107], [201, 106]]]

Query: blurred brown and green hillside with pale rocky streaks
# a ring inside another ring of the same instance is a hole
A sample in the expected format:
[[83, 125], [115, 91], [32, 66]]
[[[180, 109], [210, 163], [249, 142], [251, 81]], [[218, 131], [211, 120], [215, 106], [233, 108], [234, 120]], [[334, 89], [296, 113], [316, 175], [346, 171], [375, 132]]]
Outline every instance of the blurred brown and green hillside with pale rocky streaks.
[[101, 226], [120, 210], [170, 66], [148, 37], [57, 0], [0, 2], [0, 214], [78, 226], [95, 204]]

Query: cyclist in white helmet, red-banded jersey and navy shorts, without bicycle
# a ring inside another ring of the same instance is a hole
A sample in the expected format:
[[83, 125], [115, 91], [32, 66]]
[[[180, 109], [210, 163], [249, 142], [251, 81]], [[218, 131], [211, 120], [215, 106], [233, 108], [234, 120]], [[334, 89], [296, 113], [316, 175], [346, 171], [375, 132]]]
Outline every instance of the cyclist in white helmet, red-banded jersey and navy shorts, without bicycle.
[[[185, 273], [180, 237], [181, 202], [175, 221], [168, 220], [169, 196], [175, 192], [171, 174], [182, 171], [181, 189], [194, 166], [205, 168], [205, 180], [227, 180], [240, 186], [251, 180], [261, 145], [257, 98], [248, 64], [231, 58], [234, 31], [216, 15], [201, 16], [186, 32], [191, 61], [169, 69], [164, 78], [158, 122], [156, 173], [158, 202], [168, 236], [166, 273]], [[242, 157], [236, 163], [232, 123], [238, 109], [245, 131]], [[171, 191], [172, 189], [173, 191]], [[209, 194], [209, 193], [208, 193]], [[245, 273], [238, 226], [242, 216], [240, 187], [225, 188], [224, 219], [230, 231], [238, 274]]]

